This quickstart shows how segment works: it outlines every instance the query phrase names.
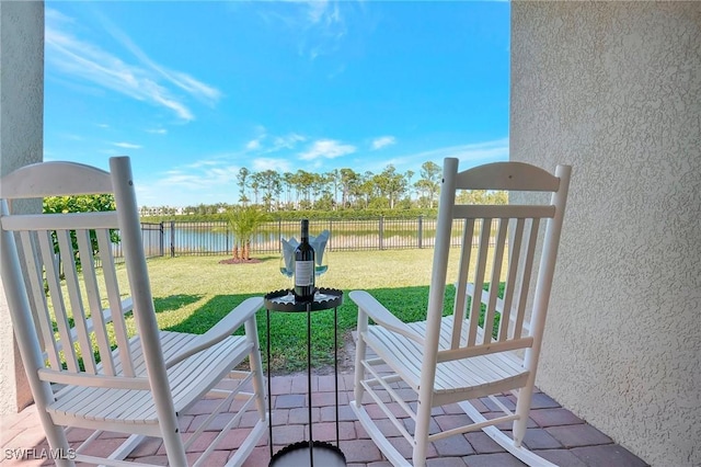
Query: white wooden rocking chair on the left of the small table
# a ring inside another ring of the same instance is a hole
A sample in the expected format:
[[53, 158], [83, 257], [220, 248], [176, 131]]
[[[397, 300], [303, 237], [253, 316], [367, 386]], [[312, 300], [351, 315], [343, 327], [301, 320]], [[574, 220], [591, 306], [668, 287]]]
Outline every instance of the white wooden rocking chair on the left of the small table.
[[[245, 299], [200, 335], [160, 331], [129, 159], [112, 158], [110, 168], [43, 162], [8, 174], [0, 185], [2, 283], [42, 425], [51, 449], [64, 453], [56, 463], [146, 465], [123, 459], [142, 438], [156, 436], [163, 440], [169, 465], [207, 465], [229, 429], [245, 411], [257, 410], [257, 422], [228, 463], [239, 466], [268, 423], [255, 323], [263, 299]], [[10, 214], [16, 198], [105, 193], [114, 194], [116, 210]], [[128, 281], [123, 267], [115, 267], [115, 234]], [[241, 327], [245, 335], [232, 335]], [[246, 357], [251, 371], [237, 371]], [[205, 396], [220, 400], [215, 413], [182, 435], [179, 415]], [[234, 399], [240, 410], [221, 433], [199, 457], [186, 457], [187, 447]], [[69, 451], [70, 428], [95, 433]], [[106, 457], [90, 455], [87, 449], [102, 431], [129, 436]]]

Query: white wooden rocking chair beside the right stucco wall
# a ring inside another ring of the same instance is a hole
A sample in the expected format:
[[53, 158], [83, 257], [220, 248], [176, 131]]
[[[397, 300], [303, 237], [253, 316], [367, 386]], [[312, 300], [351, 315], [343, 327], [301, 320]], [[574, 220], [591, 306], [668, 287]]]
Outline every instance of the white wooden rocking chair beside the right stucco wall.
[[[349, 294], [358, 305], [355, 400], [350, 407], [392, 465], [423, 467], [428, 443], [476, 430], [483, 430], [530, 466], [552, 465], [524, 447], [522, 441], [570, 172], [570, 167], [559, 166], [552, 175], [520, 162], [496, 162], [458, 172], [458, 160], [446, 159], [426, 320], [404, 323], [367, 292]], [[550, 192], [551, 202], [457, 205], [460, 190]], [[547, 224], [542, 243], [537, 241], [541, 219]], [[451, 249], [457, 242], [461, 248]], [[449, 262], [451, 255], [457, 255], [455, 263]], [[537, 255], [538, 278], [531, 287]], [[446, 281], [453, 270], [453, 307], [444, 317]], [[397, 390], [397, 383], [402, 381], [400, 387], [411, 388], [411, 396]], [[495, 397], [504, 391], [517, 397], [515, 413]], [[397, 403], [390, 407], [387, 395]], [[481, 397], [492, 398], [505, 414], [486, 419], [470, 402]], [[409, 441], [413, 448], [411, 464], [382, 434], [365, 403], [382, 409]], [[432, 409], [448, 403], [458, 403], [473, 423], [429, 433]], [[405, 425], [394, 413], [397, 407], [413, 419], [413, 430], [407, 428], [412, 423]], [[509, 421], [514, 422], [513, 438], [495, 426]]]

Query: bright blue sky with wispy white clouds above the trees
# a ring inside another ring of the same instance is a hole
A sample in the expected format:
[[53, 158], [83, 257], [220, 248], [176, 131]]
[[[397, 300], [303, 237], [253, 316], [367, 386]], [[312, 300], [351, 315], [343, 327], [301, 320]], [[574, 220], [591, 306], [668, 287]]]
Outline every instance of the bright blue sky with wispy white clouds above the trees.
[[140, 205], [508, 159], [508, 2], [48, 0], [45, 43], [45, 160], [128, 155]]

